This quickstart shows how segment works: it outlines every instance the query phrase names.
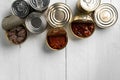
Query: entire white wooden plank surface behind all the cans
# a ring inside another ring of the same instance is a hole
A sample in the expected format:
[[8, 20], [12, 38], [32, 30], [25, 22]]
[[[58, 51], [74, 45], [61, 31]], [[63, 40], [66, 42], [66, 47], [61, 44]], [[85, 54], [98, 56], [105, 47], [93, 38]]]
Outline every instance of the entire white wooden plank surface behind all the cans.
[[[14, 0], [0, 0], [0, 24]], [[51, 0], [68, 4], [73, 13], [77, 0]], [[120, 14], [119, 0], [113, 4]], [[10, 44], [0, 26], [0, 80], [120, 80], [120, 17], [108, 29], [97, 28], [93, 36], [79, 40], [68, 31], [65, 49], [51, 51], [46, 32], [30, 34], [19, 46]]]

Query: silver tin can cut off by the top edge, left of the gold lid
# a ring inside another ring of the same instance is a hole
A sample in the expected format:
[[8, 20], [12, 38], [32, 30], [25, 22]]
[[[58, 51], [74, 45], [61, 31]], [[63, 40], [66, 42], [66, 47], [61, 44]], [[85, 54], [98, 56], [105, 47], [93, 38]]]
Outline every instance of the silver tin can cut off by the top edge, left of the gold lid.
[[50, 0], [29, 0], [31, 7], [37, 11], [44, 11], [48, 8]]

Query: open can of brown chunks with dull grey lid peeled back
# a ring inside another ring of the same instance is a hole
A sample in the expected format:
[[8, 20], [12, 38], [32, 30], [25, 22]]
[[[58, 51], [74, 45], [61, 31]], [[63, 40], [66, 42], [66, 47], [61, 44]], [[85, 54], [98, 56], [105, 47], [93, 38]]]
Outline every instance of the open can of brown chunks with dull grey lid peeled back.
[[6, 31], [7, 39], [13, 44], [21, 44], [27, 38], [24, 21], [17, 16], [10, 15], [3, 19], [2, 27]]

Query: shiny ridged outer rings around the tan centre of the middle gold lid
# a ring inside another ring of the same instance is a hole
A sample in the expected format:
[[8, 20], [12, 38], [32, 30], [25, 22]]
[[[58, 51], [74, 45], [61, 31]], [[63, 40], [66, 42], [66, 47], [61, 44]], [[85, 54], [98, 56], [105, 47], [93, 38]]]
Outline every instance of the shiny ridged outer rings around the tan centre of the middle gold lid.
[[[57, 10], [60, 10], [60, 9], [64, 9], [64, 10], [67, 11], [67, 15], [66, 15], [66, 13], [64, 13], [64, 15], [66, 17], [68, 17], [68, 18], [67, 18], [66, 21], [64, 21], [64, 23], [57, 22], [55, 19], [53, 19], [54, 12], [57, 11]], [[50, 24], [51, 27], [54, 27], [54, 28], [56, 28], [56, 27], [64, 27], [72, 19], [72, 10], [71, 10], [71, 8], [67, 4], [62, 3], [62, 2], [57, 2], [57, 3], [54, 3], [53, 5], [51, 5], [47, 9], [47, 11], [46, 11], [46, 18], [47, 18], [47, 22]]]

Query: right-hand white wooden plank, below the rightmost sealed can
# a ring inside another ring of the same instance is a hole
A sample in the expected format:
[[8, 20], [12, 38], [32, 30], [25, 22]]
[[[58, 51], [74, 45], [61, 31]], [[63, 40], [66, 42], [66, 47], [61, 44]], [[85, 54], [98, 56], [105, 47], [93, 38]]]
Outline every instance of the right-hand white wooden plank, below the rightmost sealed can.
[[[77, 0], [67, 0], [75, 12]], [[102, 0], [102, 3], [110, 3]], [[119, 6], [119, 1], [113, 1]], [[117, 7], [118, 8], [118, 7]], [[119, 10], [118, 10], [119, 11]], [[120, 17], [119, 17], [120, 18]], [[88, 39], [79, 40], [69, 33], [67, 46], [68, 80], [119, 80], [120, 22], [111, 28], [99, 29]]]

